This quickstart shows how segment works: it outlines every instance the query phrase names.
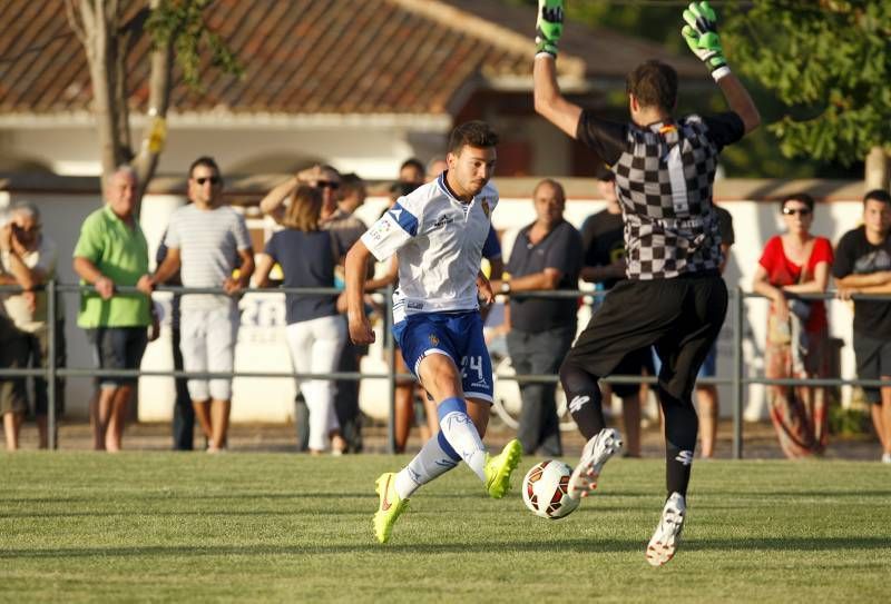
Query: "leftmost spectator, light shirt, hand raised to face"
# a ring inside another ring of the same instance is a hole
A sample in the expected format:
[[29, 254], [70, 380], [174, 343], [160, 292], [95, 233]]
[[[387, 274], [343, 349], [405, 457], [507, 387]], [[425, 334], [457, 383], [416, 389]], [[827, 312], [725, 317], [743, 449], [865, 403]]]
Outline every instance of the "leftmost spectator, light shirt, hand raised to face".
[[[40, 210], [30, 201], [19, 201], [12, 205], [10, 211], [11, 230], [10, 250], [0, 253], [0, 261], [7, 273], [12, 270], [11, 254], [16, 254], [25, 263], [26, 269], [33, 286], [46, 285], [56, 276], [56, 261], [58, 250], [56, 242], [43, 235], [40, 222]], [[65, 320], [63, 305], [56, 305], [56, 366], [63, 367], [65, 350]], [[7, 297], [3, 305], [7, 315], [16, 323], [16, 327], [28, 335], [29, 365], [33, 368], [49, 366], [49, 324], [47, 317], [47, 293], [38, 290], [22, 293]], [[49, 397], [47, 380], [43, 377], [33, 378], [35, 419], [39, 435], [39, 447], [49, 446], [48, 412]], [[65, 383], [61, 378], [56, 380], [56, 417], [60, 417], [65, 409]]]

